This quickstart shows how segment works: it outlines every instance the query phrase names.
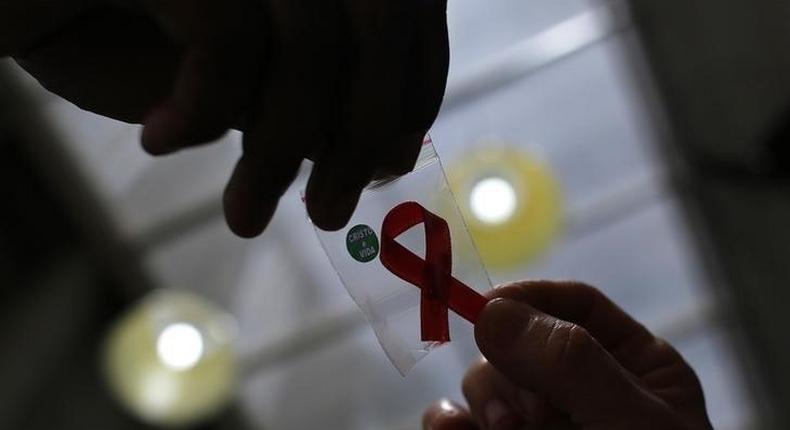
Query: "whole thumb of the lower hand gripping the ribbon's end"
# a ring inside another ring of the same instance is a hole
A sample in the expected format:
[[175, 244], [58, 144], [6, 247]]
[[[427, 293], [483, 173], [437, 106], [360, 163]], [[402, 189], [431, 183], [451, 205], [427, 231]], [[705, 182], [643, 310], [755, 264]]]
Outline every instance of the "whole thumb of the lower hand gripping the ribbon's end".
[[576, 424], [628, 428], [629, 417], [644, 419], [655, 403], [587, 330], [524, 303], [489, 303], [475, 338], [499, 372], [546, 398]]

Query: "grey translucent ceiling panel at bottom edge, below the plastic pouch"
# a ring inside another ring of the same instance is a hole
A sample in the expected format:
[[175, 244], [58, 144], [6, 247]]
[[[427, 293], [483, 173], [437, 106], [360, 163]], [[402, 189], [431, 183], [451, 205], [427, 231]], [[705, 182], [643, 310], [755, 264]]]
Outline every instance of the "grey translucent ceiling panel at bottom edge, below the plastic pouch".
[[456, 337], [404, 379], [365, 327], [249, 378], [243, 387], [245, 412], [263, 428], [421, 428], [419, 417], [432, 401], [463, 398], [461, 378], [475, 356], [463, 350], [461, 341], [471, 339], [471, 332]]

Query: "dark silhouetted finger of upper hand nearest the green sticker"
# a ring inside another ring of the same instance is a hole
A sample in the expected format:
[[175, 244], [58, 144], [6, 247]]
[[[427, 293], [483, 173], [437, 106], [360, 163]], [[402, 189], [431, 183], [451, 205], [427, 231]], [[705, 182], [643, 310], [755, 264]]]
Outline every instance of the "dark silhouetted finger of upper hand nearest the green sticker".
[[[340, 84], [336, 130], [307, 185], [310, 218], [324, 230], [348, 223], [364, 188], [399, 145], [406, 59], [415, 1], [344, 0], [349, 72]], [[421, 136], [411, 139], [416, 146]], [[383, 172], [389, 173], [389, 172]]]

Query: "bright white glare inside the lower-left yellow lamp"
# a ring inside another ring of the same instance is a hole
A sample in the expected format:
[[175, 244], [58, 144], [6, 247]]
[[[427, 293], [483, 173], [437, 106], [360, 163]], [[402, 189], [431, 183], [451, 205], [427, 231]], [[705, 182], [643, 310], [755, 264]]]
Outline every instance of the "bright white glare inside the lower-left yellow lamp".
[[156, 352], [167, 367], [191, 369], [203, 357], [203, 336], [191, 324], [171, 324], [159, 334]]

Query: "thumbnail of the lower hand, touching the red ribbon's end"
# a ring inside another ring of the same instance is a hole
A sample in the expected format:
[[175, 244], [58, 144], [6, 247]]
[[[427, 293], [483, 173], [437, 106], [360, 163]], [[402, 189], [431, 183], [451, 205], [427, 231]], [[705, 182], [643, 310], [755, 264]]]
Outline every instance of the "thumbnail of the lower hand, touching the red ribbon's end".
[[475, 338], [484, 353], [506, 351], [529, 325], [530, 308], [508, 299], [495, 299], [486, 305], [475, 328]]

